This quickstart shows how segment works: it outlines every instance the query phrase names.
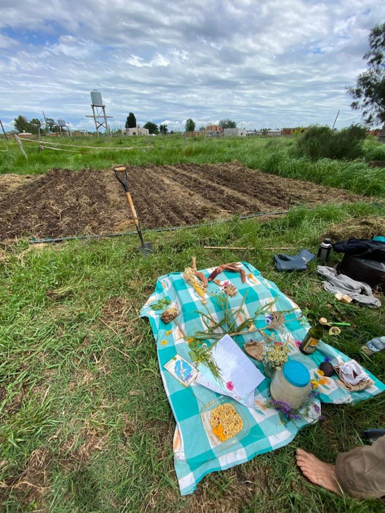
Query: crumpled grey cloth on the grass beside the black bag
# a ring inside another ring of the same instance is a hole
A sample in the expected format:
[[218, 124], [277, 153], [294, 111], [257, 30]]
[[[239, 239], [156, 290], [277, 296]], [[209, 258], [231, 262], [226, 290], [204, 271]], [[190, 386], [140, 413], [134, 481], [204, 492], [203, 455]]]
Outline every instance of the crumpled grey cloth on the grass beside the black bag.
[[352, 280], [345, 274], [338, 274], [333, 267], [326, 267], [319, 265], [317, 272], [325, 278], [323, 288], [329, 292], [340, 292], [341, 294], [348, 294], [350, 297], [363, 305], [370, 306], [371, 308], [379, 308], [381, 302], [374, 297], [372, 289], [367, 283], [357, 282]]

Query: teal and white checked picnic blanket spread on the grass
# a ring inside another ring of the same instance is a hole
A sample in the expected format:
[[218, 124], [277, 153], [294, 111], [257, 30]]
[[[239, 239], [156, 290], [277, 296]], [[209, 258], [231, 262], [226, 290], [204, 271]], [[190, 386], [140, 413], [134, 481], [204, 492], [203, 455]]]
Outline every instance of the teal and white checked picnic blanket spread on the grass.
[[[271, 312], [286, 311], [285, 323], [279, 331], [274, 331], [277, 341], [288, 341], [291, 347], [290, 359], [297, 359], [302, 362], [310, 371], [311, 377], [321, 381], [318, 386], [320, 395], [314, 399], [307, 417], [301, 420], [282, 422], [278, 411], [275, 408], [267, 407], [266, 401], [269, 396], [269, 385], [271, 380], [265, 380], [258, 386], [254, 408], [243, 408], [251, 428], [248, 434], [235, 444], [226, 448], [215, 446], [204, 429], [201, 421], [200, 411], [204, 405], [217, 399], [219, 394], [197, 384], [185, 387], [179, 383], [167, 370], [164, 365], [176, 354], [190, 362], [188, 355], [189, 347], [185, 335], [192, 336], [197, 331], [206, 329], [202, 322], [199, 311], [203, 310], [201, 298], [182, 277], [181, 272], [170, 273], [158, 279], [155, 293], [143, 306], [141, 317], [148, 317], [150, 325], [157, 342], [158, 360], [163, 385], [170, 403], [172, 413], [176, 420], [174, 433], [174, 464], [179, 482], [181, 495], [191, 494], [197, 487], [197, 483], [209, 472], [224, 470], [234, 465], [251, 460], [256, 455], [277, 449], [290, 443], [296, 433], [302, 427], [318, 421], [320, 416], [320, 401], [324, 403], [354, 403], [363, 399], [375, 396], [385, 389], [385, 385], [377, 380], [369, 371], [374, 385], [359, 392], [349, 392], [337, 385], [337, 378], [325, 378], [317, 373], [319, 364], [327, 356], [336, 365], [350, 360], [345, 354], [337, 349], [320, 342], [317, 349], [311, 356], [305, 356], [298, 350], [298, 342], [301, 341], [310, 325], [301, 318], [302, 312], [290, 298], [288, 298], [275, 283], [264, 279], [261, 273], [248, 263], [240, 263], [246, 273], [246, 283], [242, 283], [240, 275], [232, 271], [224, 271], [218, 278], [229, 280], [238, 289], [238, 294], [229, 298], [229, 307], [232, 311], [239, 308], [246, 295], [243, 306], [243, 315], [254, 316], [261, 305], [269, 306]], [[206, 277], [214, 268], [204, 269]], [[218, 286], [210, 282], [207, 291], [211, 294], [218, 292]], [[168, 299], [171, 304], [177, 305], [179, 315], [177, 324], [172, 321], [165, 324], [160, 315], [161, 310], [153, 310], [151, 305], [161, 299]], [[214, 295], [205, 294], [209, 311], [221, 318], [223, 309], [220, 302], [215, 300]], [[240, 315], [237, 323], [244, 319]], [[239, 325], [239, 324], [238, 324]], [[265, 314], [257, 318], [255, 325], [264, 327], [266, 325]], [[236, 336], [234, 339], [243, 348], [245, 342], [253, 338], [262, 341], [262, 335], [254, 332], [248, 336]], [[209, 343], [209, 342], [208, 342]], [[258, 362], [262, 370], [262, 365]]]

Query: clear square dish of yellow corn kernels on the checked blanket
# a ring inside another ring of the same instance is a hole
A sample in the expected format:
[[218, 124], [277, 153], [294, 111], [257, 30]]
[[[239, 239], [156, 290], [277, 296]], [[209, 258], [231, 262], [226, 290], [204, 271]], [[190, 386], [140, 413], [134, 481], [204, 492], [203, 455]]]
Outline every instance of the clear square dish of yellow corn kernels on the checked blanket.
[[246, 408], [229, 397], [221, 396], [201, 409], [201, 419], [211, 446], [229, 447], [246, 437], [250, 423]]

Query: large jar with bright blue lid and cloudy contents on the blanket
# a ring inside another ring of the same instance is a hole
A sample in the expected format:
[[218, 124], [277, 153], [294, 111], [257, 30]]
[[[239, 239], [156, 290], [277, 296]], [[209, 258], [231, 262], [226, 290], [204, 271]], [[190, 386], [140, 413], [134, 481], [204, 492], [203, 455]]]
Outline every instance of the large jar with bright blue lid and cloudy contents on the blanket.
[[309, 370], [303, 363], [292, 360], [276, 371], [270, 385], [272, 398], [289, 403], [293, 409], [301, 407], [311, 390]]

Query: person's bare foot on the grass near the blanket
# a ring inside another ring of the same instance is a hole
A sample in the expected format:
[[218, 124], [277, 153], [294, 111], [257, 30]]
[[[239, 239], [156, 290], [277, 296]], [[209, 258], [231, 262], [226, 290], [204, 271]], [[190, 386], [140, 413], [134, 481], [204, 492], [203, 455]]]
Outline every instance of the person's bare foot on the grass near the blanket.
[[334, 465], [319, 460], [303, 449], [297, 449], [297, 465], [309, 481], [326, 488], [326, 490], [333, 491], [335, 494], [342, 495]]

